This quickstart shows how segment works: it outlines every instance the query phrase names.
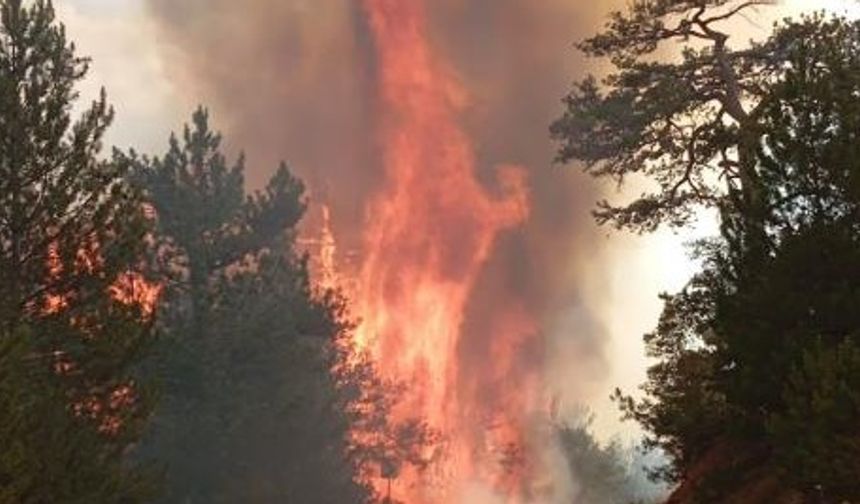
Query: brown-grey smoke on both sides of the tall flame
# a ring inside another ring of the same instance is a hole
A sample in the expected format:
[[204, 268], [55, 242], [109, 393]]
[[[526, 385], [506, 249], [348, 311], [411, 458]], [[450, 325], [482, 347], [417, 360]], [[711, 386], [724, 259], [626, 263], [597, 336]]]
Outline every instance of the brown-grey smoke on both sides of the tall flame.
[[[360, 255], [373, 218], [368, 203], [384, 182], [374, 113], [378, 62], [361, 2], [147, 4], [173, 80], [212, 108], [228, 148], [246, 151], [251, 185], [262, 185], [286, 160], [309, 184], [312, 198], [331, 207], [341, 249]], [[492, 188], [497, 166], [520, 165], [528, 170], [531, 195], [528, 221], [498, 238], [472, 290], [463, 330], [469, 337], [458, 348], [460, 366], [471, 377], [463, 386], [472, 388], [470, 394], [500, 394], [519, 386], [517, 376], [539, 373], [557, 402], [587, 402], [604, 392], [608, 366], [606, 335], [594, 316], [600, 287], [587, 281], [603, 265], [602, 242], [589, 216], [597, 195], [590, 180], [552, 165], [547, 126], [584, 68], [572, 42], [590, 34], [610, 5], [426, 4], [432, 42], [462, 84], [460, 126], [473, 141], [478, 179]], [[319, 222], [311, 218], [308, 225]], [[524, 371], [500, 379], [481, 370], [494, 336], [504, 330], [499, 324], [515, 316], [503, 312], [509, 307], [526, 313], [540, 337], [523, 339], [516, 349], [510, 367]], [[492, 498], [479, 486], [465, 491], [465, 502]]]

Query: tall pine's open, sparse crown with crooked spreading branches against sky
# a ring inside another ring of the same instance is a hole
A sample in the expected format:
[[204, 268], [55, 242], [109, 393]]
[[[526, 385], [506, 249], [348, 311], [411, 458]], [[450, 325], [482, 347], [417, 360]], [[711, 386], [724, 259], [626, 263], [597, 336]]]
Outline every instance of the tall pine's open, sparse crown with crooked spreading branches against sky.
[[614, 71], [577, 82], [565, 97], [551, 126], [557, 160], [619, 184], [645, 176], [656, 187], [625, 205], [600, 202], [599, 222], [643, 232], [686, 225], [700, 208], [731, 209], [747, 221], [745, 246], [765, 253], [760, 116], [792, 39], [737, 47], [726, 23], [775, 3], [639, 0], [579, 44]]

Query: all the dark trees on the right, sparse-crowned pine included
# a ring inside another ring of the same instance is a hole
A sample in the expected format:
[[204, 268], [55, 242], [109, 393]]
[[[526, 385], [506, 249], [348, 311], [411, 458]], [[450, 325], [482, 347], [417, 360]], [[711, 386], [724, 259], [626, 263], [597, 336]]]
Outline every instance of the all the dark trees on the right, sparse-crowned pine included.
[[[683, 227], [702, 269], [616, 394], [669, 463], [673, 503], [860, 502], [860, 22], [823, 13], [730, 43], [767, 2], [645, 0], [580, 44], [614, 67], [553, 125], [559, 160], [649, 179], [602, 223]], [[679, 55], [671, 57], [669, 55]]]

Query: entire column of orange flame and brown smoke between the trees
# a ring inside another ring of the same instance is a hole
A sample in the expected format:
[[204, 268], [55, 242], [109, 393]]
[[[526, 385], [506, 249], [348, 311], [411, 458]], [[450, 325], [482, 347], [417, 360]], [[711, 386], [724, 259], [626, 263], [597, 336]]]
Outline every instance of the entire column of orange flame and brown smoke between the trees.
[[608, 6], [150, 7], [180, 53], [171, 72], [245, 149], [252, 183], [279, 159], [308, 183], [302, 234], [351, 301], [355, 350], [406, 384], [395, 416], [441, 434], [438, 460], [398, 478], [400, 497], [551, 494], [559, 403], [584, 405], [607, 364], [600, 303], [577, 281], [602, 267], [596, 186], [553, 165], [559, 107], [544, 97], [563, 95], [575, 34]]

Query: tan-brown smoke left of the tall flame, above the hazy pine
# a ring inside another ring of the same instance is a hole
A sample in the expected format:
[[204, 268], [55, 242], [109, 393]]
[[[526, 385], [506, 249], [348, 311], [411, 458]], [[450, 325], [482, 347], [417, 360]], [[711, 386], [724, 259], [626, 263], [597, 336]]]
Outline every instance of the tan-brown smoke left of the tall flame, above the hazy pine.
[[372, 48], [353, 0], [147, 0], [171, 78], [210, 107], [260, 187], [286, 161], [358, 243], [373, 159]]

